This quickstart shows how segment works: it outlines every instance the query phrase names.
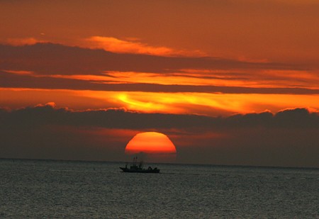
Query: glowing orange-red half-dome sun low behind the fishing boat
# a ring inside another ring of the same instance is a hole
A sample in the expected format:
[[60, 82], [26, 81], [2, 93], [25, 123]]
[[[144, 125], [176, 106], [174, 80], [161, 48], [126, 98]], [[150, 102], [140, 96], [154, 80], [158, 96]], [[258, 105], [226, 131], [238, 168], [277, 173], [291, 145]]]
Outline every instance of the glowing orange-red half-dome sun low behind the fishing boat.
[[135, 135], [125, 147], [125, 153], [176, 154], [176, 148], [169, 137], [162, 133], [147, 132]]

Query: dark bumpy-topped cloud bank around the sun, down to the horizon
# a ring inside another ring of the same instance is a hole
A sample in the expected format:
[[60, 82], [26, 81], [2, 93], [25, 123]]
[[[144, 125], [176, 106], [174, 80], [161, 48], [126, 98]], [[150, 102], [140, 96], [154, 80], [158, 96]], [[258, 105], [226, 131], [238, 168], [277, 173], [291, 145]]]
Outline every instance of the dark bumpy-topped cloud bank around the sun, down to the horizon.
[[172, 139], [178, 162], [319, 167], [319, 115], [306, 108], [208, 117], [49, 104], [2, 108], [0, 124], [1, 157], [123, 160], [130, 138], [153, 130]]

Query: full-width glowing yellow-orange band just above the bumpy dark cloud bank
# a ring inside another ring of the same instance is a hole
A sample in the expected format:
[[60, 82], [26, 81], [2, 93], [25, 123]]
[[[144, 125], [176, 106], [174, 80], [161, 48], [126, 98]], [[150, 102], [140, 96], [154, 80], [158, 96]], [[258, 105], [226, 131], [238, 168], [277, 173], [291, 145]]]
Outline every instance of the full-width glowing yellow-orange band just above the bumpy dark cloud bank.
[[[28, 99], [26, 99], [28, 96]], [[72, 91], [61, 89], [1, 89], [0, 105], [9, 108], [55, 102], [75, 110], [126, 108], [144, 113], [195, 113], [229, 116], [283, 108], [311, 108], [317, 111], [319, 95], [294, 94], [201, 94], [118, 91]]]

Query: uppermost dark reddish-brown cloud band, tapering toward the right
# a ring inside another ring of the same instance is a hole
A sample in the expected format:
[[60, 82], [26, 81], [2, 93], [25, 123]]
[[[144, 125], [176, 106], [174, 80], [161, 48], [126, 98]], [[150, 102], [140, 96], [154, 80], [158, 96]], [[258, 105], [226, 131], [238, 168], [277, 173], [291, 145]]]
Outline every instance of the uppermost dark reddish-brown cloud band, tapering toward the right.
[[0, 45], [1, 69], [35, 74], [101, 74], [103, 71], [169, 72], [179, 69], [298, 69], [293, 64], [240, 62], [213, 57], [117, 54], [52, 43]]

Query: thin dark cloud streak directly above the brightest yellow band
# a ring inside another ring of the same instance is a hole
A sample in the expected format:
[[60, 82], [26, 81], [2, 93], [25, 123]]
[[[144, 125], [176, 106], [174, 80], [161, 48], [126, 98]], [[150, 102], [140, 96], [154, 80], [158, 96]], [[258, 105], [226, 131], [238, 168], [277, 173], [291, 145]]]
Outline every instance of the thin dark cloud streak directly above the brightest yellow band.
[[[0, 71], [1, 73], [1, 71]], [[107, 77], [106, 77], [107, 78]], [[0, 74], [0, 86], [35, 89], [74, 89], [92, 91], [145, 91], [160, 93], [213, 93], [213, 94], [319, 94], [319, 89], [298, 87], [252, 87], [252, 86], [215, 86], [215, 85], [188, 85], [188, 84], [155, 84], [145, 82], [126, 83], [113, 80], [97, 81], [77, 77], [39, 76], [28, 74]]]

